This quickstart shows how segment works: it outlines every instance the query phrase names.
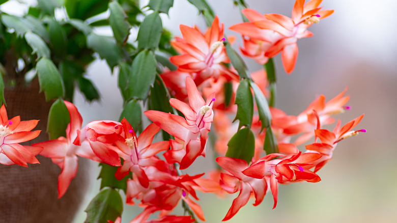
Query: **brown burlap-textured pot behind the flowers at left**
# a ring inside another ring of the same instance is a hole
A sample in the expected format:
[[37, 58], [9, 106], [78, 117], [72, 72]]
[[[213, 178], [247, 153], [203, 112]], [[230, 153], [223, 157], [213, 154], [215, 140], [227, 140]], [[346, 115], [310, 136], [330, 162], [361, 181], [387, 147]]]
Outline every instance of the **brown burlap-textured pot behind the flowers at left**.
[[[37, 81], [28, 87], [5, 90], [9, 118], [19, 115], [21, 120], [40, 120], [35, 130], [42, 132], [27, 145], [48, 140], [45, 130], [51, 103], [45, 102], [44, 94], [38, 92]], [[77, 176], [58, 199], [61, 168], [49, 158], [37, 158], [40, 164], [29, 164], [29, 168], [0, 164], [0, 222], [72, 222], [88, 188], [88, 160], [79, 159]]]

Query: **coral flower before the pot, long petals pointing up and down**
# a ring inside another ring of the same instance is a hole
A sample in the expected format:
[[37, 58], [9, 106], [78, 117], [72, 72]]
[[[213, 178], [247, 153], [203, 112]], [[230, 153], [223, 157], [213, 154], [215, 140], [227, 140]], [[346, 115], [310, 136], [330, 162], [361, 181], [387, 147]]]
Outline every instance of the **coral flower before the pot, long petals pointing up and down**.
[[82, 118], [76, 106], [64, 101], [70, 115], [70, 123], [66, 128], [66, 138], [61, 136], [56, 140], [44, 143], [36, 143], [33, 146], [43, 147], [40, 155], [51, 158], [52, 162], [62, 169], [58, 176], [58, 198], [61, 198], [69, 187], [71, 180], [76, 176], [78, 163], [77, 155], [90, 158], [95, 161], [100, 159], [92, 152], [90, 147], [80, 147], [73, 144], [78, 137], [81, 128]]

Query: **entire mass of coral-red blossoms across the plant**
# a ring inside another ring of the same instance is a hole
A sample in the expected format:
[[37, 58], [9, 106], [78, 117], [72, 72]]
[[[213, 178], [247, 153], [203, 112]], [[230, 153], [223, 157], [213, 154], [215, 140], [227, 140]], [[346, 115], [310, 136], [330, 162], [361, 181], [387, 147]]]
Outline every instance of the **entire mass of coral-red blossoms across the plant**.
[[[332, 14], [333, 10], [321, 10], [322, 0], [297, 0], [292, 18], [279, 14], [262, 15], [252, 9], [242, 13], [249, 22], [236, 24], [231, 30], [243, 35], [243, 55], [265, 64], [269, 58], [281, 52], [281, 60], [287, 71], [293, 71], [298, 48], [296, 41], [313, 34], [307, 28]], [[277, 153], [263, 154], [266, 131], [263, 131], [259, 115], [254, 115], [250, 126], [254, 140], [254, 154], [250, 160], [227, 156], [231, 138], [241, 127], [234, 126], [229, 117], [236, 114], [234, 105], [239, 75], [230, 63], [223, 44], [223, 24], [215, 17], [211, 27], [202, 33], [197, 27], [180, 25], [182, 38], [172, 42], [180, 52], [169, 60], [178, 67], [175, 71], [160, 74], [173, 97], [169, 103], [183, 116], [147, 110], [145, 115], [153, 123], [137, 136], [126, 119], [116, 121], [93, 121], [82, 127], [82, 118], [77, 108], [65, 101], [70, 115], [66, 138], [59, 137], [32, 147], [18, 143], [31, 140], [39, 134], [32, 130], [36, 120], [20, 122], [19, 117], [8, 120], [4, 106], [0, 109], [0, 136], [2, 141], [0, 162], [3, 164], [37, 163], [34, 157], [41, 154], [49, 157], [62, 169], [58, 191], [61, 198], [77, 172], [78, 156], [119, 166], [115, 177], [123, 179], [133, 173], [127, 181], [126, 203], [144, 210], [130, 222], [193, 222], [193, 216], [169, 215], [183, 200], [197, 218], [205, 220], [204, 213], [195, 200], [196, 191], [220, 193], [239, 192], [223, 220], [232, 218], [250, 198], [259, 205], [270, 191], [277, 205], [278, 185], [293, 182], [319, 182], [317, 172], [332, 158], [338, 142], [364, 129], [352, 130], [362, 119], [360, 116], [341, 127], [338, 121], [333, 131], [323, 125], [334, 122], [332, 115], [349, 110], [346, 90], [326, 102], [320, 95], [298, 116], [287, 115], [280, 109], [270, 107], [271, 128], [278, 145]], [[229, 37], [228, 42], [234, 38]], [[268, 96], [266, 71], [252, 74], [252, 81], [261, 93]], [[225, 86], [231, 86], [230, 101], [225, 95]], [[215, 100], [216, 95], [216, 100]], [[258, 109], [254, 114], [258, 114]], [[213, 145], [218, 155], [216, 162], [222, 170], [189, 176], [181, 170], [189, 166], [198, 156], [205, 156], [211, 124], [217, 133]], [[234, 128], [236, 127], [236, 128]], [[168, 141], [153, 143], [157, 132], [163, 130], [172, 137]], [[297, 136], [297, 137], [295, 137]], [[296, 140], [292, 141], [292, 138]], [[301, 152], [298, 146], [305, 145]], [[163, 157], [163, 159], [161, 159]], [[159, 212], [159, 219], [148, 220]], [[112, 222], [111, 219], [109, 222]], [[117, 218], [115, 222], [120, 222]]]

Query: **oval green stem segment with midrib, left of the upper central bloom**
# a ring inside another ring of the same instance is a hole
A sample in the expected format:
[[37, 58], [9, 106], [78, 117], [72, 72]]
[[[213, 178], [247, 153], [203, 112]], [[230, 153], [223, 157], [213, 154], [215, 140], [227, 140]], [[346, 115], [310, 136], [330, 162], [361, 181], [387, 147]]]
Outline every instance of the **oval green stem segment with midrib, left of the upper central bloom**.
[[146, 100], [156, 78], [156, 60], [150, 50], [138, 53], [132, 62], [128, 92], [130, 98]]

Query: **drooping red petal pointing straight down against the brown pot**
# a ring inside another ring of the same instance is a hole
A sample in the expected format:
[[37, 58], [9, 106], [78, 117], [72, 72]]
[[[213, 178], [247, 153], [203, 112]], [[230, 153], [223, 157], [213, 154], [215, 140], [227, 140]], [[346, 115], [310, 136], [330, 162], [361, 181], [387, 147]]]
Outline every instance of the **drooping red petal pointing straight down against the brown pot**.
[[62, 172], [58, 176], [58, 198], [64, 196], [70, 182], [77, 174], [77, 168], [77, 156], [67, 156], [63, 164]]

